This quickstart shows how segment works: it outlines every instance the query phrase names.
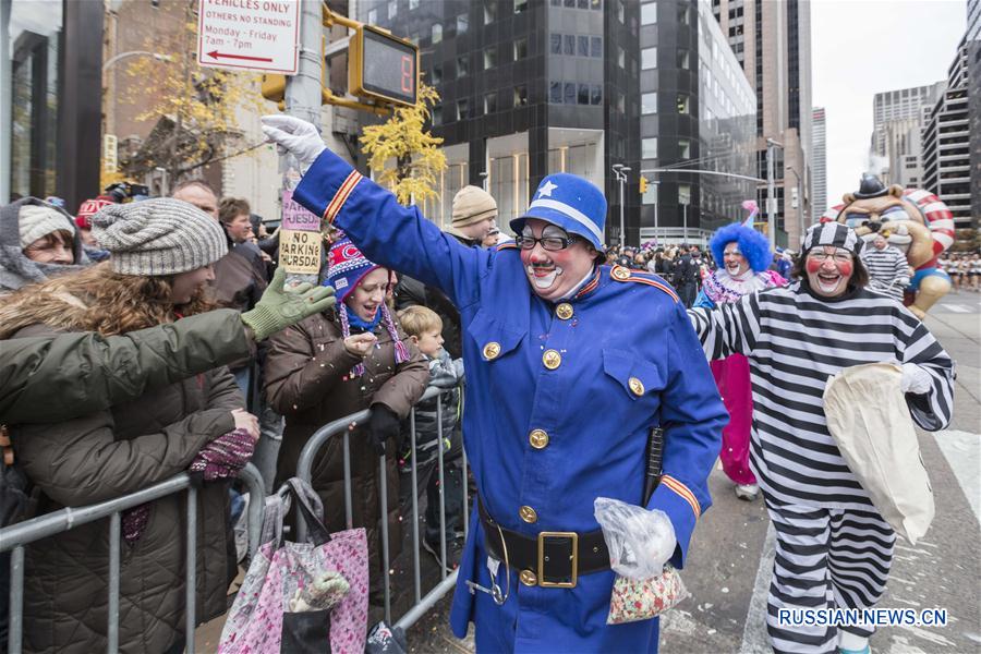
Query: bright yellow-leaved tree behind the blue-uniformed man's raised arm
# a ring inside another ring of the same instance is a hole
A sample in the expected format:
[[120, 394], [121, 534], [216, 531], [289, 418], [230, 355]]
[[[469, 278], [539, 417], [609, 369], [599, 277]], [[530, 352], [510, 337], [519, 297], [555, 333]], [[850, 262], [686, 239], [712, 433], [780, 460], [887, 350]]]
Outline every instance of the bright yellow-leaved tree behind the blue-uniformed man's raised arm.
[[[377, 182], [388, 185], [403, 205], [439, 197], [436, 179], [446, 170], [443, 138], [425, 130], [431, 107], [438, 101], [436, 89], [420, 81], [415, 106], [397, 108], [386, 122], [367, 125], [361, 134], [361, 152], [368, 155]], [[387, 167], [392, 159], [395, 166]]]

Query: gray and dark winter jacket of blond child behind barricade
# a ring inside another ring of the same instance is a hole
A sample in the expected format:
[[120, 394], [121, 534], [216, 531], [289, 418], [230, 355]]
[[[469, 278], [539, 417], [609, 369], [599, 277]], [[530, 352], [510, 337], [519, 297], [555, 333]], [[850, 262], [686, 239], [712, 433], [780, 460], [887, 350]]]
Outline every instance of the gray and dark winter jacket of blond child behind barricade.
[[[441, 411], [437, 413], [436, 398], [423, 400], [415, 405], [415, 464], [423, 465], [439, 456], [439, 423], [443, 423], [443, 437], [452, 440], [453, 431], [460, 421], [460, 389], [457, 385], [463, 379], [463, 360], [450, 359], [446, 350], [428, 360], [429, 386], [443, 388], [440, 395]], [[411, 424], [402, 422], [402, 447], [399, 451], [400, 465], [411, 467], [408, 455], [411, 453]], [[453, 447], [459, 447], [453, 445]], [[447, 452], [449, 453], [449, 452]], [[456, 453], [456, 452], [455, 452]], [[402, 463], [404, 461], [404, 463]], [[407, 469], [408, 470], [408, 469]]]

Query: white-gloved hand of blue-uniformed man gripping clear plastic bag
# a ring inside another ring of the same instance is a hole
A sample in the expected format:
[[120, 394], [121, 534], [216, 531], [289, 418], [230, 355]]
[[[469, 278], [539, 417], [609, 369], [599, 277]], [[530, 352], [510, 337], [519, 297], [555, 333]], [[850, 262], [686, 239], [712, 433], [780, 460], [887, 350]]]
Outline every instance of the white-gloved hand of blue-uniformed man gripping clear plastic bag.
[[628, 579], [649, 579], [664, 571], [677, 544], [675, 525], [667, 513], [608, 497], [597, 497], [593, 510], [614, 572]]

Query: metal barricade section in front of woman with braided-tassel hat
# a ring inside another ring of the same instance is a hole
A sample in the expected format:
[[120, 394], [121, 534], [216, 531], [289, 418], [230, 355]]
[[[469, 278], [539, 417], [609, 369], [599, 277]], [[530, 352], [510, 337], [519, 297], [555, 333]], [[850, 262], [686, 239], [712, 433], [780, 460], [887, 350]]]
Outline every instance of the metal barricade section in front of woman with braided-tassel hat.
[[[458, 385], [457, 388], [460, 389], [462, 393], [462, 384]], [[410, 420], [410, 433], [411, 433], [411, 456], [412, 456], [412, 566], [413, 566], [413, 589], [414, 589], [414, 600], [415, 604], [413, 604], [409, 610], [402, 615], [398, 622], [395, 623], [397, 627], [401, 627], [403, 629], [409, 629], [412, 625], [416, 622], [429, 608], [432, 608], [450, 589], [452, 589], [457, 583], [457, 570], [453, 570], [451, 573], [447, 573], [446, 571], [446, 556], [447, 556], [447, 542], [446, 542], [446, 505], [445, 505], [445, 495], [444, 491], [445, 486], [445, 477], [444, 477], [444, 456], [447, 453], [444, 448], [444, 437], [443, 437], [443, 398], [441, 395], [446, 391], [445, 388], [435, 388], [429, 387], [423, 393], [423, 396], [419, 399], [420, 402], [424, 400], [429, 400], [432, 398], [436, 398], [436, 429], [437, 429], [437, 438], [438, 438], [438, 463], [437, 463], [437, 479], [439, 483], [439, 533], [440, 533], [440, 582], [436, 584], [425, 596], [422, 596], [422, 580], [421, 580], [421, 570], [420, 570], [420, 540], [419, 540], [419, 493], [417, 493], [417, 484], [416, 484], [416, 456], [415, 456], [415, 407], [412, 408], [412, 412], [409, 416]], [[350, 429], [348, 428], [351, 423], [364, 423], [367, 421], [368, 415], [371, 415], [371, 410], [365, 409], [363, 411], [359, 411], [356, 413], [352, 413], [350, 415], [346, 415], [343, 417], [339, 417], [332, 422], [327, 423], [310, 437], [306, 441], [306, 445], [303, 447], [303, 451], [300, 453], [300, 459], [296, 464], [296, 476], [300, 479], [311, 482], [312, 480], [312, 470], [314, 459], [316, 458], [317, 452], [330, 439], [335, 437], [343, 438], [343, 471], [344, 471], [344, 523], [348, 529], [353, 526], [353, 507], [352, 507], [352, 488], [351, 488], [351, 447], [350, 447]], [[462, 452], [462, 483], [463, 483], [463, 532], [464, 535], [469, 531], [470, 528], [470, 498], [468, 497], [468, 484], [467, 484], [467, 452], [463, 450]], [[385, 569], [385, 583], [384, 583], [384, 598], [385, 598], [385, 621], [391, 625], [391, 596], [389, 590], [389, 581], [391, 578], [391, 567], [389, 561], [389, 547], [388, 547], [388, 475], [386, 470], [386, 458], [378, 458], [378, 495], [379, 495], [379, 504], [380, 504], [380, 516], [382, 516], [382, 561], [384, 564]], [[330, 510], [330, 507], [325, 507], [325, 510]], [[403, 521], [404, 522], [404, 521]], [[298, 541], [304, 541], [306, 533], [305, 526], [300, 521], [298, 526]]]

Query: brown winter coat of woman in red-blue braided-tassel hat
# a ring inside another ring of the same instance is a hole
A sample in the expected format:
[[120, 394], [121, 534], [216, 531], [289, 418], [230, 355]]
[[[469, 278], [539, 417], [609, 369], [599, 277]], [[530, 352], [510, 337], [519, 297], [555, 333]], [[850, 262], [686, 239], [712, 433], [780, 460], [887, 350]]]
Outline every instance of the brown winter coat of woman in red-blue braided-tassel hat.
[[[305, 318], [269, 339], [264, 367], [266, 399], [286, 416], [277, 465], [277, 485], [296, 474], [300, 452], [314, 432], [327, 423], [372, 404], [385, 404], [399, 417], [409, 415], [429, 380], [426, 362], [399, 330], [410, 360], [396, 364], [395, 344], [382, 326], [375, 330], [377, 347], [364, 360], [365, 372], [351, 377], [360, 358], [344, 349], [337, 313]], [[366, 427], [366, 425], [364, 425]], [[389, 444], [388, 451], [393, 450]], [[380, 520], [377, 485], [378, 457], [359, 426], [350, 437], [353, 524], [368, 532], [373, 570], [380, 570], [377, 545]], [[398, 472], [395, 456], [388, 463], [389, 543], [400, 543]], [[344, 529], [343, 438], [330, 438], [314, 459], [312, 485], [320, 495], [330, 531]], [[390, 556], [395, 558], [395, 553]], [[373, 572], [373, 578], [375, 573]]]

